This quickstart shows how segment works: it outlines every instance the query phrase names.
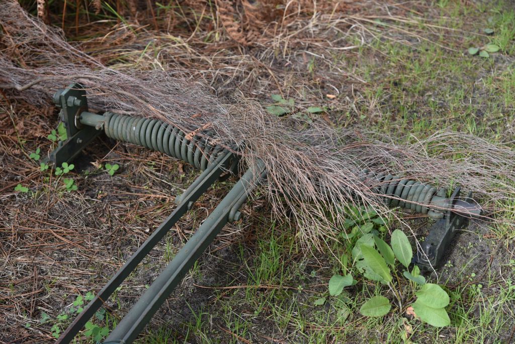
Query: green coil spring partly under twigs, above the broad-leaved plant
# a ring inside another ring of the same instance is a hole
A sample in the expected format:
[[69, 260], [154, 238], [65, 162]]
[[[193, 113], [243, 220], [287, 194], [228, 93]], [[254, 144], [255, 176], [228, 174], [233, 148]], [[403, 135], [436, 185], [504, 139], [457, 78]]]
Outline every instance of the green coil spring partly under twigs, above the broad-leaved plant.
[[422, 184], [402, 176], [375, 174], [368, 169], [363, 170], [360, 177], [366, 184], [369, 184], [370, 181], [378, 184], [372, 189], [372, 192], [381, 195], [386, 205], [411, 209], [422, 214], [429, 213], [430, 216], [436, 218], [443, 217], [443, 214], [436, 213], [427, 207], [434, 196], [445, 197], [445, 190], [441, 188], [438, 189], [435, 186]]

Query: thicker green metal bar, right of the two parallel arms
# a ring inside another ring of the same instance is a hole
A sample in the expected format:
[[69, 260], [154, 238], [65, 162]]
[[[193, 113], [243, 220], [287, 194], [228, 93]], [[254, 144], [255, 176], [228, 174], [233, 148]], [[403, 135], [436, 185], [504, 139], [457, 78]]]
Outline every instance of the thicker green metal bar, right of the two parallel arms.
[[107, 337], [106, 343], [132, 343], [153, 314], [161, 307], [171, 291], [179, 284], [186, 272], [190, 270], [198, 257], [208, 248], [219, 231], [226, 225], [229, 212], [242, 195], [248, 194], [256, 179], [255, 176], [261, 176], [261, 174], [262, 170], [253, 171], [249, 168], [246, 171], [229, 194], [205, 219], [200, 228], [184, 244], [174, 259], [145, 291], [145, 294], [132, 306], [122, 321]]

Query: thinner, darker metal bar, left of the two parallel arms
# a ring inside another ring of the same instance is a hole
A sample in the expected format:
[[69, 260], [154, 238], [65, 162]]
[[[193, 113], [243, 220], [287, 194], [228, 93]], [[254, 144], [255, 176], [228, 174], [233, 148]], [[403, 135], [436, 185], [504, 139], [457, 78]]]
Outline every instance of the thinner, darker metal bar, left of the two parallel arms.
[[[143, 258], [150, 250], [159, 243], [163, 236], [172, 226], [186, 213], [190, 202], [197, 200], [214, 181], [224, 172], [225, 166], [231, 163], [234, 158], [233, 153], [226, 153], [217, 158], [214, 164], [197, 178], [196, 182], [187, 189], [187, 196], [182, 198], [182, 202], [168, 218], [148, 237], [145, 243], [130, 257], [124, 266], [116, 272], [111, 280], [95, 295], [93, 300], [84, 307], [83, 311], [74, 319], [72, 324], [63, 332], [57, 343], [69, 343], [75, 335], [82, 329], [84, 324], [93, 317], [96, 311], [106, 302], [116, 288], [134, 271]], [[198, 182], [197, 182], [198, 181]]]

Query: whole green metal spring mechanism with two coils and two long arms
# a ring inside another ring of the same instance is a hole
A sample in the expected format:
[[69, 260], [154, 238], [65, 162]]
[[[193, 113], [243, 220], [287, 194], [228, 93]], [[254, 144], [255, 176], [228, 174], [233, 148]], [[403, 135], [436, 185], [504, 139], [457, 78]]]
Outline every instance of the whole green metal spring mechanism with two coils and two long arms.
[[[191, 209], [200, 195], [216, 180], [224, 177], [224, 173], [235, 173], [239, 159], [225, 147], [211, 144], [206, 138], [209, 137], [209, 132], [188, 137], [179, 128], [158, 119], [112, 112], [89, 112], [86, 92], [78, 83], [57, 91], [54, 101], [61, 108], [60, 115], [68, 137], [65, 142], [59, 142], [58, 147], [49, 155], [48, 160], [56, 166], [63, 162], [71, 162], [96, 136], [104, 132], [111, 139], [160, 151], [202, 171], [193, 184], [182, 195], [176, 197], [177, 207], [170, 216], [98, 291], [94, 299], [84, 307], [57, 340], [57, 343], [69, 343], [180, 217]], [[226, 223], [241, 218], [239, 208], [247, 201], [253, 188], [265, 179], [266, 170], [263, 163], [254, 169], [248, 168], [243, 173], [215, 210], [202, 222], [174, 259], [122, 318], [106, 339], [106, 344], [128, 344], [138, 336]], [[419, 250], [414, 259], [414, 263], [422, 267], [438, 266], [456, 231], [464, 228], [470, 217], [482, 215], [482, 209], [471, 199], [471, 194], [465, 199], [459, 198], [459, 188], [451, 197], [445, 197], [445, 192], [435, 187], [399, 176], [375, 175], [368, 170], [363, 171], [362, 181], [380, 185], [374, 191], [384, 197], [388, 205], [411, 209], [437, 220], [422, 243], [422, 250]]]

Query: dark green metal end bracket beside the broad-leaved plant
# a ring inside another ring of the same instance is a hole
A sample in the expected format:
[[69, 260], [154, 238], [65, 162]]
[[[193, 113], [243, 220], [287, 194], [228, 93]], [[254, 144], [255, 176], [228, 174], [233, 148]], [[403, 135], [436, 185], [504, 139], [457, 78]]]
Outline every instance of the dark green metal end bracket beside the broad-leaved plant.
[[[454, 209], [459, 197], [460, 188], [454, 190], [449, 198], [449, 210], [444, 218], [438, 220], [429, 234], [421, 244], [422, 249], [418, 250], [413, 262], [422, 269], [434, 269], [443, 263], [443, 256], [449, 250], [452, 239], [456, 232], [468, 225], [468, 217], [451, 211]], [[467, 198], [471, 198], [470, 193]]]

